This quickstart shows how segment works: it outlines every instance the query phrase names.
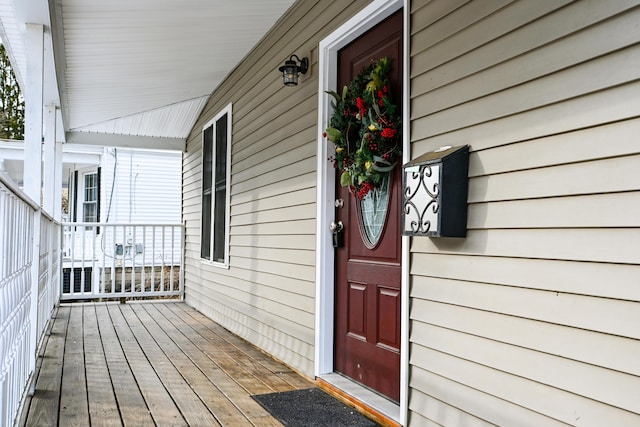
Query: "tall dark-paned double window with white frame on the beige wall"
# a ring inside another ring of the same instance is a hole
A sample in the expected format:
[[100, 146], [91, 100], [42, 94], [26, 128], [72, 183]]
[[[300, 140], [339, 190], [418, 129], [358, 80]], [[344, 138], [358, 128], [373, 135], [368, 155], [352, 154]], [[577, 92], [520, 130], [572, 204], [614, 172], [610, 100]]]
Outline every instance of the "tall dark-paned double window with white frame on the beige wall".
[[231, 104], [202, 130], [202, 226], [200, 256], [229, 265]]

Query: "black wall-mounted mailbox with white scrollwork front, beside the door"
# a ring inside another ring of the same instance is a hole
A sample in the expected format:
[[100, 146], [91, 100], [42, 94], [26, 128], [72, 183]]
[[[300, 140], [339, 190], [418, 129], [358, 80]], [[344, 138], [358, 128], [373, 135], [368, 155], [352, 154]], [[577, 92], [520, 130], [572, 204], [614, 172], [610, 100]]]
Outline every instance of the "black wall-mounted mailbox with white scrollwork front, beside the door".
[[469, 146], [441, 147], [402, 169], [402, 234], [466, 237]]

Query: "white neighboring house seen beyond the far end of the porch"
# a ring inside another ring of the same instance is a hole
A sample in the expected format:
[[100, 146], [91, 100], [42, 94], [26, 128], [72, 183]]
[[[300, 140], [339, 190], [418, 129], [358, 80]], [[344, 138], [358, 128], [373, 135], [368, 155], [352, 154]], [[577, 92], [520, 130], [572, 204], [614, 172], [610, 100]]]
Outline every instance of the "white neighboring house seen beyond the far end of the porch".
[[[18, 185], [23, 156], [19, 141], [0, 145], [0, 170]], [[160, 226], [180, 223], [179, 151], [65, 145], [63, 159], [63, 223], [85, 223], [64, 227], [64, 289], [97, 292], [104, 267], [180, 265], [179, 228]]]

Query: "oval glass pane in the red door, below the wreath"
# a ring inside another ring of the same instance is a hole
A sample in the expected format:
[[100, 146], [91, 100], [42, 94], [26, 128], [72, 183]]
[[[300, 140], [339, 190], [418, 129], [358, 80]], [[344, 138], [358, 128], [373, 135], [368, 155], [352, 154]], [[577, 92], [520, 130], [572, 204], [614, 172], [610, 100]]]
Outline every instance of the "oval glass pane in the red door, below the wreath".
[[370, 190], [362, 200], [358, 200], [360, 235], [366, 247], [374, 248], [382, 237], [389, 211], [389, 177], [386, 174], [380, 185]]

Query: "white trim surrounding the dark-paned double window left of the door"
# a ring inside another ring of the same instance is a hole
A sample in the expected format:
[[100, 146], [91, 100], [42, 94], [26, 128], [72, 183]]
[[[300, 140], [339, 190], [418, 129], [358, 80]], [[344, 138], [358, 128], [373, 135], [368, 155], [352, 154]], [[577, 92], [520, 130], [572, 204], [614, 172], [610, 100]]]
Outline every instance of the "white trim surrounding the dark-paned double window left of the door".
[[[226, 107], [224, 107], [222, 110], [220, 110], [215, 116], [213, 116], [213, 118], [211, 120], [209, 120], [203, 127], [202, 127], [202, 132], [201, 132], [201, 147], [204, 150], [204, 131], [205, 129], [207, 129], [208, 127], [212, 126], [215, 124], [216, 121], [218, 121], [222, 116], [224, 116], [225, 114], [228, 114], [227, 116], [227, 177], [226, 177], [226, 195], [225, 195], [225, 204], [226, 204], [226, 208], [225, 208], [225, 218], [224, 218], [224, 262], [219, 262], [219, 261], [214, 261], [214, 260], [208, 260], [205, 258], [200, 258], [200, 261], [202, 263], [208, 264], [208, 265], [212, 265], [214, 267], [220, 267], [220, 268], [229, 268], [229, 229], [230, 229], [230, 219], [231, 219], [231, 127], [233, 125], [233, 119], [232, 119], [232, 104], [229, 103]], [[215, 138], [215, 132], [214, 132], [214, 138]], [[214, 139], [215, 142], [215, 139]], [[215, 146], [214, 146], [215, 147]], [[202, 155], [202, 159], [204, 160], [204, 153]], [[211, 245], [211, 249], [210, 249], [210, 254], [213, 255], [213, 244], [214, 244], [214, 215], [215, 215], [215, 174], [216, 174], [216, 165], [215, 165], [215, 149], [214, 149], [214, 159], [213, 159], [213, 165], [211, 168], [211, 173], [212, 173], [212, 195], [211, 195], [211, 239], [210, 239], [210, 245]], [[200, 179], [202, 179], [202, 175], [200, 176]], [[202, 191], [200, 192], [200, 203], [202, 203]], [[201, 208], [202, 211], [202, 208]], [[202, 224], [200, 224], [200, 233], [202, 233]]]

